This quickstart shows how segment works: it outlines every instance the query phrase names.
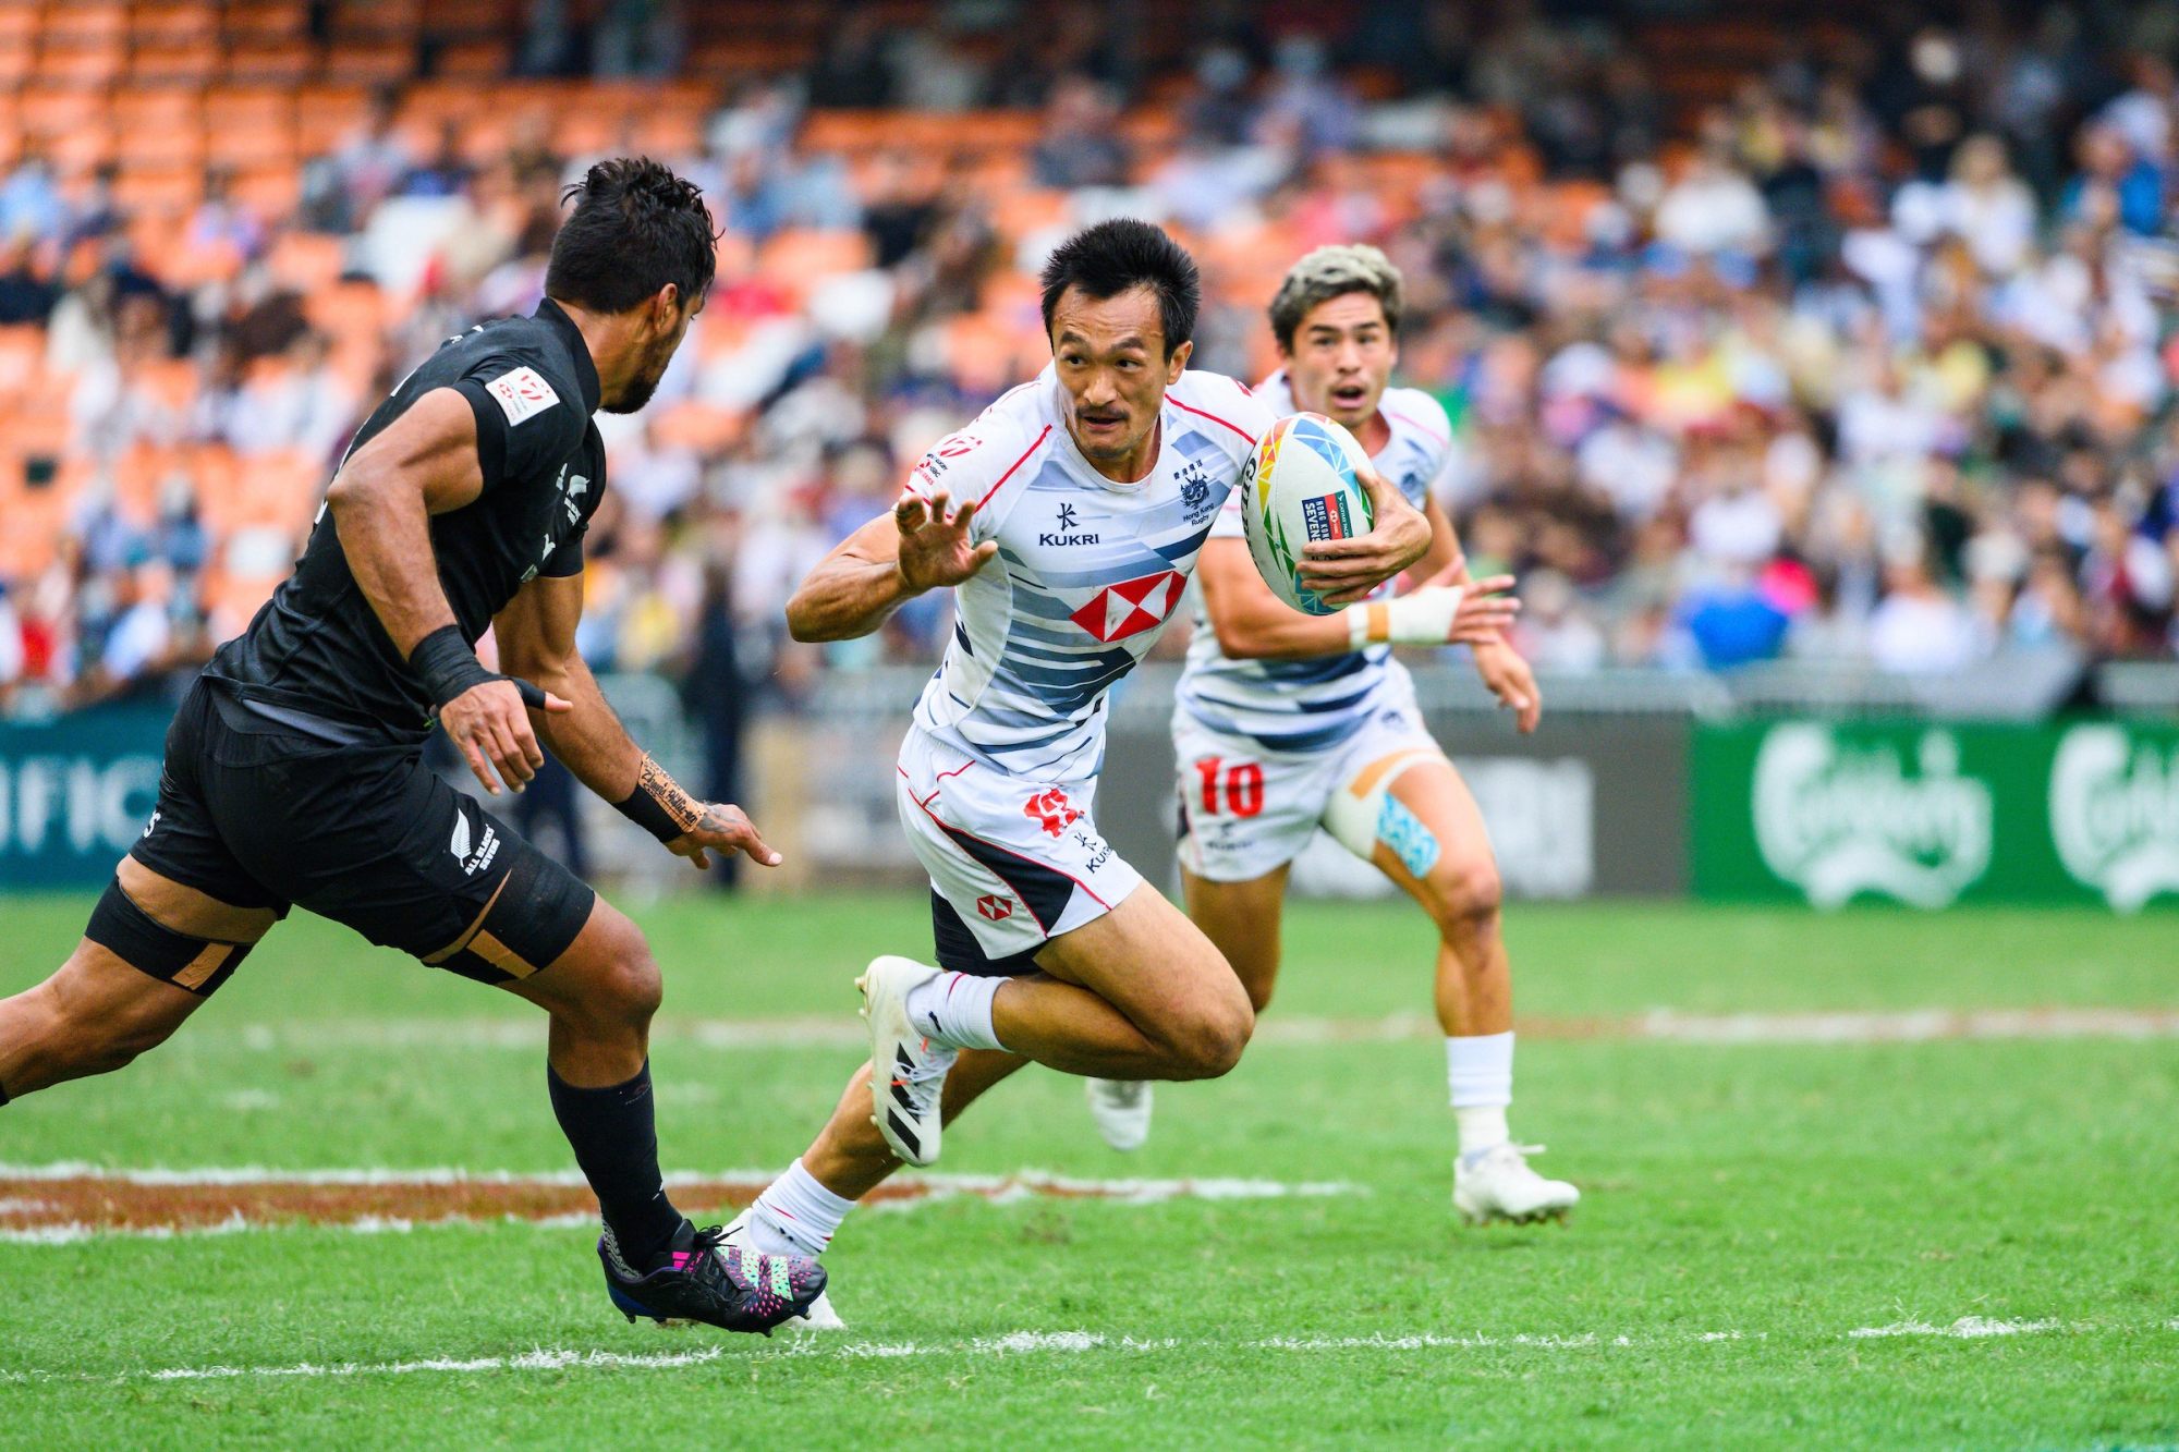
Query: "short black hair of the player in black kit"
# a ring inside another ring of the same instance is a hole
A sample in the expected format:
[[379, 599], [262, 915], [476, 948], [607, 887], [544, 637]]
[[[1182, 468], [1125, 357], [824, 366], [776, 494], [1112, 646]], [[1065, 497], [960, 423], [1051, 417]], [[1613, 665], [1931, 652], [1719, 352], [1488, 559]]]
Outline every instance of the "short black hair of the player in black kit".
[[551, 240], [545, 297], [595, 312], [628, 312], [667, 283], [682, 303], [710, 288], [719, 227], [704, 192], [649, 157], [599, 161], [562, 203], [575, 211]]

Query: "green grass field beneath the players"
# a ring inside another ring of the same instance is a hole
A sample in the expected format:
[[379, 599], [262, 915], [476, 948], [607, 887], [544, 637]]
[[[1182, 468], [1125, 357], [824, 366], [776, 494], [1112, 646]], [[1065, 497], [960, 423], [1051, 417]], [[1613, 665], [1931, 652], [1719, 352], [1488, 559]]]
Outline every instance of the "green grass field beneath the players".
[[[0, 992], [85, 907], [0, 900]], [[928, 942], [911, 898], [643, 920], [660, 1140], [706, 1173], [802, 1149], [861, 1057], [852, 972]], [[551, 1221], [0, 1241], [0, 1443], [2179, 1443], [2179, 920], [1586, 905], [1510, 937], [1512, 1123], [1571, 1225], [1453, 1223], [1442, 1049], [1384, 1020], [1427, 1007], [1427, 929], [1310, 905], [1259, 1042], [1159, 1090], [1146, 1149], [1033, 1070], [941, 1169], [1336, 1193], [869, 1210], [828, 1256], [850, 1330], [769, 1343], [623, 1323]], [[2162, 1018], [1791, 1018], [2042, 1007]], [[1787, 1018], [1691, 1042], [1652, 1009]], [[0, 1110], [0, 1162], [562, 1173], [540, 1060], [525, 1005], [299, 918], [159, 1053]]]

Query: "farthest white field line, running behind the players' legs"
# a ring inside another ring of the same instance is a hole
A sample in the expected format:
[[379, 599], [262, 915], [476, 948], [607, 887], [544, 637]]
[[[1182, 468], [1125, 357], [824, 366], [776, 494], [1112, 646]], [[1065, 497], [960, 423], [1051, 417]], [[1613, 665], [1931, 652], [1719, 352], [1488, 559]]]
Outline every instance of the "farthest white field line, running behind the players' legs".
[[[1680, 1014], [1652, 1009], [1632, 1018], [1523, 1020], [1525, 1038], [1606, 1038], [1665, 1044], [1926, 1044], [1939, 1040], [2179, 1038], [2179, 1009], [2037, 1007], [2037, 1009], [1900, 1009], [1837, 1014]], [[1253, 1044], [1390, 1044], [1438, 1038], [1436, 1020], [1405, 1012], [1381, 1018], [1266, 1018]], [[285, 1020], [242, 1029], [192, 1031], [192, 1042], [240, 1040], [244, 1049], [285, 1051], [353, 1044], [357, 1049], [519, 1049], [545, 1044], [545, 1020], [529, 1018], [375, 1018], [342, 1023]], [[861, 1049], [869, 1042], [854, 1018], [802, 1014], [787, 1018], [660, 1018], [652, 1040], [699, 1049]]]

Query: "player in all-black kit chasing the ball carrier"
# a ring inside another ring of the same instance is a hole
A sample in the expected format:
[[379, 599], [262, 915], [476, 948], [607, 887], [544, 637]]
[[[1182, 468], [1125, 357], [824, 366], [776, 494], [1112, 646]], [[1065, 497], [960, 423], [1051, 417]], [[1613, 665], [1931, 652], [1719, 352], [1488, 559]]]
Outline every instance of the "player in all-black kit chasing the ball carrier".
[[[523, 789], [543, 743], [695, 866], [778, 861], [628, 739], [575, 654], [606, 488], [591, 414], [649, 401], [704, 307], [715, 229], [654, 161], [601, 161], [569, 194], [538, 310], [449, 338], [370, 414], [294, 576], [183, 698], [157, 811], [83, 942], [0, 1001], [0, 1103], [163, 1042], [299, 903], [543, 1007], [614, 1306], [769, 1332], [824, 1271], [726, 1247], [667, 1199], [643, 933], [423, 765], [434, 717], [492, 796]], [[475, 656], [486, 628], [506, 676]]]

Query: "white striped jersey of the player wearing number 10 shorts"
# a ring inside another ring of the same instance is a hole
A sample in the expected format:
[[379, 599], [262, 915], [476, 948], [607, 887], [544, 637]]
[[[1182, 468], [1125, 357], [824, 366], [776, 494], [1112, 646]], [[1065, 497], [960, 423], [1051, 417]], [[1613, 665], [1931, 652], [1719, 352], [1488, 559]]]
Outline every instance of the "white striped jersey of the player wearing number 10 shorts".
[[[1273, 419], [1294, 412], [1286, 371], [1257, 384], [1255, 397]], [[1386, 388], [1377, 412], [1392, 436], [1371, 462], [1408, 504], [1423, 508], [1453, 451], [1445, 406], [1421, 388]], [[1242, 539], [1240, 497], [1218, 512], [1212, 539]], [[1395, 589], [1397, 580], [1386, 580], [1373, 600]], [[1390, 645], [1307, 661], [1231, 661], [1218, 650], [1218, 632], [1198, 608], [1188, 667], [1181, 671], [1179, 709], [1201, 726], [1249, 739], [1259, 750], [1310, 754], [1331, 750], [1360, 730], [1371, 711], [1388, 700], [1388, 689], [1408, 689], [1408, 667], [1392, 658]]]

